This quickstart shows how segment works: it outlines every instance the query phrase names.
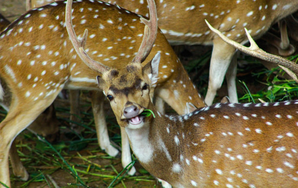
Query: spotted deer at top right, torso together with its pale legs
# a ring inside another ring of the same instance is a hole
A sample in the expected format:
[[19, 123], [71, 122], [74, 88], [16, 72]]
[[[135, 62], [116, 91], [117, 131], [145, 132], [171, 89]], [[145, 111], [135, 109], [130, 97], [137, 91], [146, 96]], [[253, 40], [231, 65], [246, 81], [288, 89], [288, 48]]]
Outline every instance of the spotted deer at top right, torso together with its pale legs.
[[[211, 105], [226, 74], [229, 99], [238, 103], [235, 49], [210, 32], [208, 22], [230, 39], [244, 44], [244, 27], [254, 38], [261, 37], [273, 23], [298, 10], [297, 0], [155, 0], [158, 24], [171, 44], [213, 45], [209, 84], [205, 97]], [[140, 15], [148, 15], [144, 0], [109, 0]], [[233, 60], [235, 61], [235, 60]], [[231, 62], [231, 63], [230, 63]]]

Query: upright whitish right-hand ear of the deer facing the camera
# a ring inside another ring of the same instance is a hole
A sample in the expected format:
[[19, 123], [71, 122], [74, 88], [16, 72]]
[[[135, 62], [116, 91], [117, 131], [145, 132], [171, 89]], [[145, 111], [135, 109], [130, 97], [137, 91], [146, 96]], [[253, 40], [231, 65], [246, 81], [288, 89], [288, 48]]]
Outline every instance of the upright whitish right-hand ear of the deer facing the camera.
[[147, 74], [151, 85], [155, 84], [158, 79], [158, 65], [160, 62], [160, 53], [156, 53], [153, 59], [147, 63], [143, 68], [143, 75]]

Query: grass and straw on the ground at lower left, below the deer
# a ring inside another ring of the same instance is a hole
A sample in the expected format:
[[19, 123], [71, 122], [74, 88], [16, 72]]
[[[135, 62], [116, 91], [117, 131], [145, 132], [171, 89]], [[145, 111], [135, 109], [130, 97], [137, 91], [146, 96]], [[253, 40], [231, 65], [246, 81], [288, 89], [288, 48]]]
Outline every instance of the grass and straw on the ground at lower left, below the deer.
[[[119, 157], [111, 157], [100, 150], [94, 120], [91, 112], [83, 112], [82, 122], [75, 122], [83, 126], [85, 131], [74, 133], [68, 128], [70, 120], [63, 117], [69, 114], [69, 109], [57, 107], [58, 119], [63, 137], [58, 143], [51, 144], [45, 138], [25, 131], [17, 140], [17, 148], [23, 165], [30, 174], [27, 182], [11, 176], [12, 187], [49, 187], [56, 188], [54, 179], [63, 176], [64, 185], [61, 188], [73, 187], [153, 187], [155, 180], [145, 169], [140, 169], [136, 176], [127, 174], [130, 166], [121, 166]], [[59, 116], [61, 114], [61, 116]], [[5, 112], [3, 112], [5, 115]], [[110, 122], [109, 132], [112, 141], [121, 146], [118, 125], [114, 118], [107, 116]], [[132, 161], [132, 165], [136, 159]]]

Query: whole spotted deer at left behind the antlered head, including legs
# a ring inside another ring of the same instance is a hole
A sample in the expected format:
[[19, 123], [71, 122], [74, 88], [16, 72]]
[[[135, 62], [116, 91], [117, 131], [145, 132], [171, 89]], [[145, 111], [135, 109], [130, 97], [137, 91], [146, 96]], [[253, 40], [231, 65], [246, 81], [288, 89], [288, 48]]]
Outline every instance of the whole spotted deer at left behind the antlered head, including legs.
[[[79, 59], [69, 40], [64, 22], [65, 2], [30, 10], [0, 34], [0, 77], [12, 93], [9, 112], [0, 124], [0, 181], [8, 186], [8, 151], [12, 141], [55, 100], [61, 89], [101, 91], [97, 71]], [[121, 71], [126, 71], [125, 65], [133, 59], [142, 41], [144, 24], [139, 17], [102, 1], [74, 1], [75, 30], [82, 34], [88, 28], [88, 38], [93, 41], [86, 45], [86, 51], [97, 61]], [[160, 31], [156, 35], [149, 57], [160, 52], [162, 62], [158, 76], [154, 77], [156, 83], [150, 87], [151, 99], [154, 96], [155, 100], [164, 100], [179, 114], [204, 106], [164, 35]], [[99, 123], [103, 101], [97, 96], [92, 99], [100, 147], [115, 156], [118, 151], [110, 144], [106, 124]], [[127, 166], [131, 161], [130, 148], [126, 133], [121, 130], [122, 161]], [[130, 174], [134, 172], [132, 168]]]

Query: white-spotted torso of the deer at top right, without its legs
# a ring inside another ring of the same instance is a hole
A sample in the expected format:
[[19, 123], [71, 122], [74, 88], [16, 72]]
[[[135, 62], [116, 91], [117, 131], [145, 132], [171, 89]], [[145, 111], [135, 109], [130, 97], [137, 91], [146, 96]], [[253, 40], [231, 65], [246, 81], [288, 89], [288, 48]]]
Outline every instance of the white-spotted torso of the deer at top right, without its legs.
[[[137, 14], [148, 15], [143, 0], [110, 0]], [[253, 37], [264, 34], [277, 20], [298, 9], [296, 0], [156, 0], [159, 27], [170, 43], [211, 44], [214, 34], [205, 19], [238, 42], [245, 41], [246, 27]], [[191, 23], [191, 24], [190, 24]]]

